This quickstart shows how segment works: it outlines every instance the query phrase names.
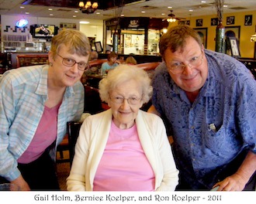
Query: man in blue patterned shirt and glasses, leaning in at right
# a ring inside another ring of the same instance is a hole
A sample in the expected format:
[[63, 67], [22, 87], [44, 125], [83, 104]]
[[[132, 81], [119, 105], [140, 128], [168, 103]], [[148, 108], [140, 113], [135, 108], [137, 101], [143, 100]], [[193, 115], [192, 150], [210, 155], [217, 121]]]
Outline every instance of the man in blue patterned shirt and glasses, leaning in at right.
[[189, 26], [160, 39], [153, 107], [173, 136], [177, 190], [255, 190], [256, 82], [237, 59], [204, 49]]

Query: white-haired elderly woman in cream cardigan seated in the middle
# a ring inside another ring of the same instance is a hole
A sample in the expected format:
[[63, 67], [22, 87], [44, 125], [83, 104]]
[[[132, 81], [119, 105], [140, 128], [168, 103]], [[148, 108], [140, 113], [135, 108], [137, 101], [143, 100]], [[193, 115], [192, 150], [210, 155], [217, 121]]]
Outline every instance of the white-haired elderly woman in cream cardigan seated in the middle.
[[119, 65], [99, 83], [109, 107], [81, 126], [69, 191], [174, 191], [178, 170], [164, 123], [140, 110], [152, 87], [144, 70]]

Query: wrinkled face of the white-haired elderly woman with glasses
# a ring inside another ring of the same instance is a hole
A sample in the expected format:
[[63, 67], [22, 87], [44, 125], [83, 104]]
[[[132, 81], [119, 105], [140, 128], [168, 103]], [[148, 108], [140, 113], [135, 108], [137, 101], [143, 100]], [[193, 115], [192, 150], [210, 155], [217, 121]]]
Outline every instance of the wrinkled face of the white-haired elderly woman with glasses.
[[109, 107], [112, 108], [113, 121], [120, 129], [131, 128], [135, 123], [143, 102], [142, 89], [136, 80], [129, 80], [119, 84], [110, 93]]

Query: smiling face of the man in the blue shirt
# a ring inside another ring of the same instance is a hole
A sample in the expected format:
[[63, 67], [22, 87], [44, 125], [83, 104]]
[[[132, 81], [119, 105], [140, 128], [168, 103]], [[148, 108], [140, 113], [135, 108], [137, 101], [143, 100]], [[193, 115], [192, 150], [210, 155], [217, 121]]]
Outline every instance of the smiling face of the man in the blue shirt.
[[172, 80], [186, 92], [199, 91], [206, 82], [208, 65], [203, 47], [192, 37], [185, 40], [184, 49], [164, 52], [164, 59]]

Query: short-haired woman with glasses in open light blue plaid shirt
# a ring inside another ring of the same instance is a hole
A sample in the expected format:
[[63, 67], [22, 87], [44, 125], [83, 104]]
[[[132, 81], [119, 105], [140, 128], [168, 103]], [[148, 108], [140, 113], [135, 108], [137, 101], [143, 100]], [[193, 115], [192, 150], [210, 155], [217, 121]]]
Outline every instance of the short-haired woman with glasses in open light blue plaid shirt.
[[26, 66], [0, 80], [0, 182], [22, 191], [58, 190], [57, 145], [67, 121], [84, 110], [80, 82], [90, 55], [88, 38], [64, 29], [54, 36], [49, 65]]

